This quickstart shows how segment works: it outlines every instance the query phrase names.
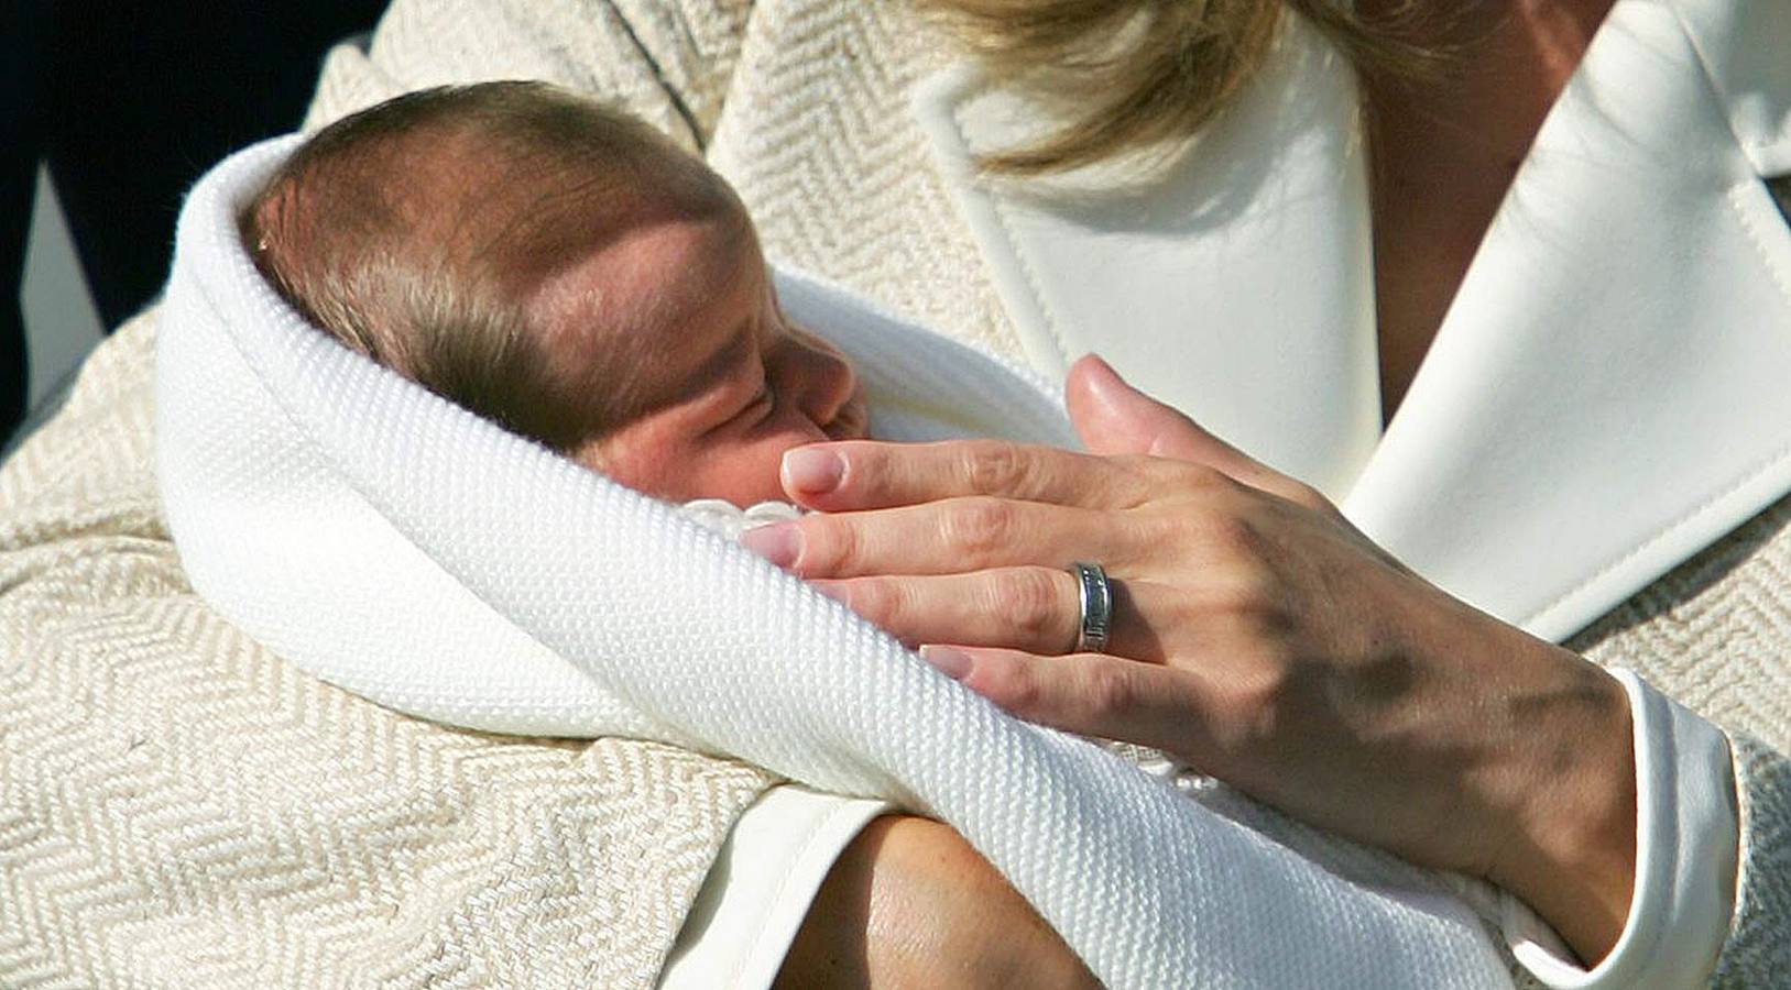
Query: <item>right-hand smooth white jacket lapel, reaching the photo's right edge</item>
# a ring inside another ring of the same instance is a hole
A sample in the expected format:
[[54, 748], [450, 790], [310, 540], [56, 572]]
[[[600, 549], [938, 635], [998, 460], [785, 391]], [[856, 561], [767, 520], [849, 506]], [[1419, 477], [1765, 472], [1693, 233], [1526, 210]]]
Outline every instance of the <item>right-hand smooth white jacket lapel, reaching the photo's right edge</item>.
[[1728, 109], [1671, 5], [1615, 5], [1345, 501], [1542, 636], [1791, 489], [1791, 233]]

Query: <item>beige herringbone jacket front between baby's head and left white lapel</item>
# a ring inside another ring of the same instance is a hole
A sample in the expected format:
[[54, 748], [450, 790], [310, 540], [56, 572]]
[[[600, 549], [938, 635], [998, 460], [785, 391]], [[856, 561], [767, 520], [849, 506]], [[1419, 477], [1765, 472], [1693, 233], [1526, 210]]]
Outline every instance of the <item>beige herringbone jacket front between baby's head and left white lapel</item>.
[[912, 84], [949, 55], [908, 2], [761, 0], [709, 161], [774, 258], [1019, 354], [908, 111]]

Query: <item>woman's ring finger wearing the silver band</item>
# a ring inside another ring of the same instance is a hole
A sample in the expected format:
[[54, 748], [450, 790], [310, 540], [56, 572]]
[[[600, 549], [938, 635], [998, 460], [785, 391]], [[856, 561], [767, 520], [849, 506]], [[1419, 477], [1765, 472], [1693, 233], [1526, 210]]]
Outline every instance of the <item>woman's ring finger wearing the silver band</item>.
[[[1153, 589], [1112, 580], [1112, 639], [1107, 650], [1162, 661], [1162, 641], [1143, 619]], [[815, 582], [824, 594], [888, 630], [908, 646], [956, 643], [1067, 653], [1082, 627], [1080, 584], [1055, 568], [999, 568], [944, 576], [870, 576]]]

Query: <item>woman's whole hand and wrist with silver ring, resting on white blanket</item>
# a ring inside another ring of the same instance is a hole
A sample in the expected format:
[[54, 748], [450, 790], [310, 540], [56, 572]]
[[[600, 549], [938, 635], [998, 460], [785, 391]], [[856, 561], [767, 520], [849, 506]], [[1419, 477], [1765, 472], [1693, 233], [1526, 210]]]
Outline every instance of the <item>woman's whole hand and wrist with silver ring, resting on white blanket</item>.
[[[1601, 958], [1635, 859], [1621, 684], [1426, 584], [1105, 363], [1078, 362], [1067, 401], [1093, 455], [790, 451], [784, 489], [826, 514], [752, 544], [1021, 718], [1487, 877]], [[1114, 580], [1109, 653], [1069, 653], [1073, 560]]]

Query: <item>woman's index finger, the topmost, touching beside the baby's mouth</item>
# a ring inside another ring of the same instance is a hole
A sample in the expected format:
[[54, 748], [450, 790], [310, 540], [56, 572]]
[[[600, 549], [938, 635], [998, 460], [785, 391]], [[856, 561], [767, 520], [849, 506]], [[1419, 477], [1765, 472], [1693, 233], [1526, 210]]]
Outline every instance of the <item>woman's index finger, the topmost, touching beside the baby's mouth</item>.
[[1150, 494], [1132, 464], [1010, 440], [813, 444], [784, 455], [781, 480], [792, 499], [826, 512], [962, 496], [1121, 508]]

